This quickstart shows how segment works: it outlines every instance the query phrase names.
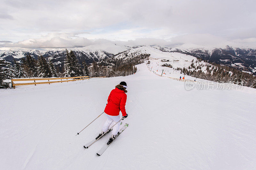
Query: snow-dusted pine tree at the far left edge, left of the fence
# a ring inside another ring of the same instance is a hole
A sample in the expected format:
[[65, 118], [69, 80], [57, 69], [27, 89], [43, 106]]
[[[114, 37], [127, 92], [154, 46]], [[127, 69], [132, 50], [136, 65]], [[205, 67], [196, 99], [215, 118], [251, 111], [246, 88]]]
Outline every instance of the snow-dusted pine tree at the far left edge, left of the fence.
[[11, 79], [13, 77], [14, 70], [11, 68], [11, 63], [0, 58], [0, 89], [8, 88], [10, 86], [9, 82], [4, 82], [6, 79]]

